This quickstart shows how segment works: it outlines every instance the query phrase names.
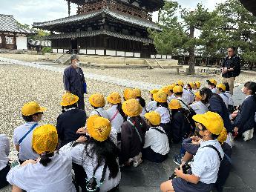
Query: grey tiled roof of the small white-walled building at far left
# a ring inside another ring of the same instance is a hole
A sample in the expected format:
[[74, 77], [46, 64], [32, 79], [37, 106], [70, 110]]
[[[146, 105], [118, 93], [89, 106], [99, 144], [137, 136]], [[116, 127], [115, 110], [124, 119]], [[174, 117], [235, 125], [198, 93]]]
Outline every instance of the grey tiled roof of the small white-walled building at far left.
[[27, 30], [19, 27], [13, 16], [3, 14], [0, 14], [0, 31], [25, 34], [36, 33], [33, 30]]

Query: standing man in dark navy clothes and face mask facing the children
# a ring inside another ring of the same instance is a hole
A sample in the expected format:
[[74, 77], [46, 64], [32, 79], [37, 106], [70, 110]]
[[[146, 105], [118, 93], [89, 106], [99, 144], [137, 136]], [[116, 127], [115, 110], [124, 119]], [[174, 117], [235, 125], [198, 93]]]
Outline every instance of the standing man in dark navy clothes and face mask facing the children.
[[79, 67], [78, 56], [71, 56], [71, 64], [64, 70], [63, 83], [66, 93], [72, 93], [79, 97], [79, 109], [85, 110], [84, 94], [86, 93], [86, 83], [84, 73]]

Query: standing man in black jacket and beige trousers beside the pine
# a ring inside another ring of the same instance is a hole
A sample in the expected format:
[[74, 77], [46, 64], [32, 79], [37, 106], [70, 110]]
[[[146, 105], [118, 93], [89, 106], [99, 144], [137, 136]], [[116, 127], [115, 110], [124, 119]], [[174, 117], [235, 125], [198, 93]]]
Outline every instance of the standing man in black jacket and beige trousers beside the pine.
[[240, 58], [234, 54], [235, 47], [229, 47], [228, 56], [221, 65], [222, 83], [229, 83], [230, 93], [233, 95], [234, 80], [240, 75]]

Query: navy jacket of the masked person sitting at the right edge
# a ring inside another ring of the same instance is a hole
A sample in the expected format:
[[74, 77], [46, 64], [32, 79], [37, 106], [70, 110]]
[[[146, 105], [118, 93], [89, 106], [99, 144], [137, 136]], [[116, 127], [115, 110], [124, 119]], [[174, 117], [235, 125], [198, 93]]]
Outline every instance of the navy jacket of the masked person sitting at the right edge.
[[234, 120], [234, 127], [237, 127], [239, 133], [250, 130], [255, 127], [256, 100], [254, 96], [247, 96], [243, 101]]

